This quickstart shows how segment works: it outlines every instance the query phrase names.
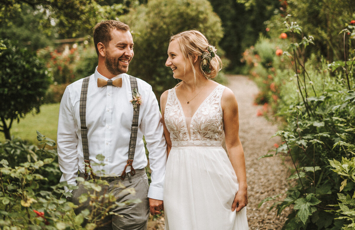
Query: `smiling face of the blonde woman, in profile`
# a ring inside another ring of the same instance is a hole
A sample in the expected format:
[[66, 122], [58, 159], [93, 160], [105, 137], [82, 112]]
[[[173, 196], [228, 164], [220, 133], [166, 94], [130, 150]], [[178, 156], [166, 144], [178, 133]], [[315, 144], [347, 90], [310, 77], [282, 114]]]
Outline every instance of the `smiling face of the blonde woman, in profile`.
[[165, 65], [171, 68], [174, 78], [183, 80], [185, 76], [192, 73], [190, 62], [182, 54], [177, 40], [173, 40], [169, 44], [168, 59], [166, 59]]

